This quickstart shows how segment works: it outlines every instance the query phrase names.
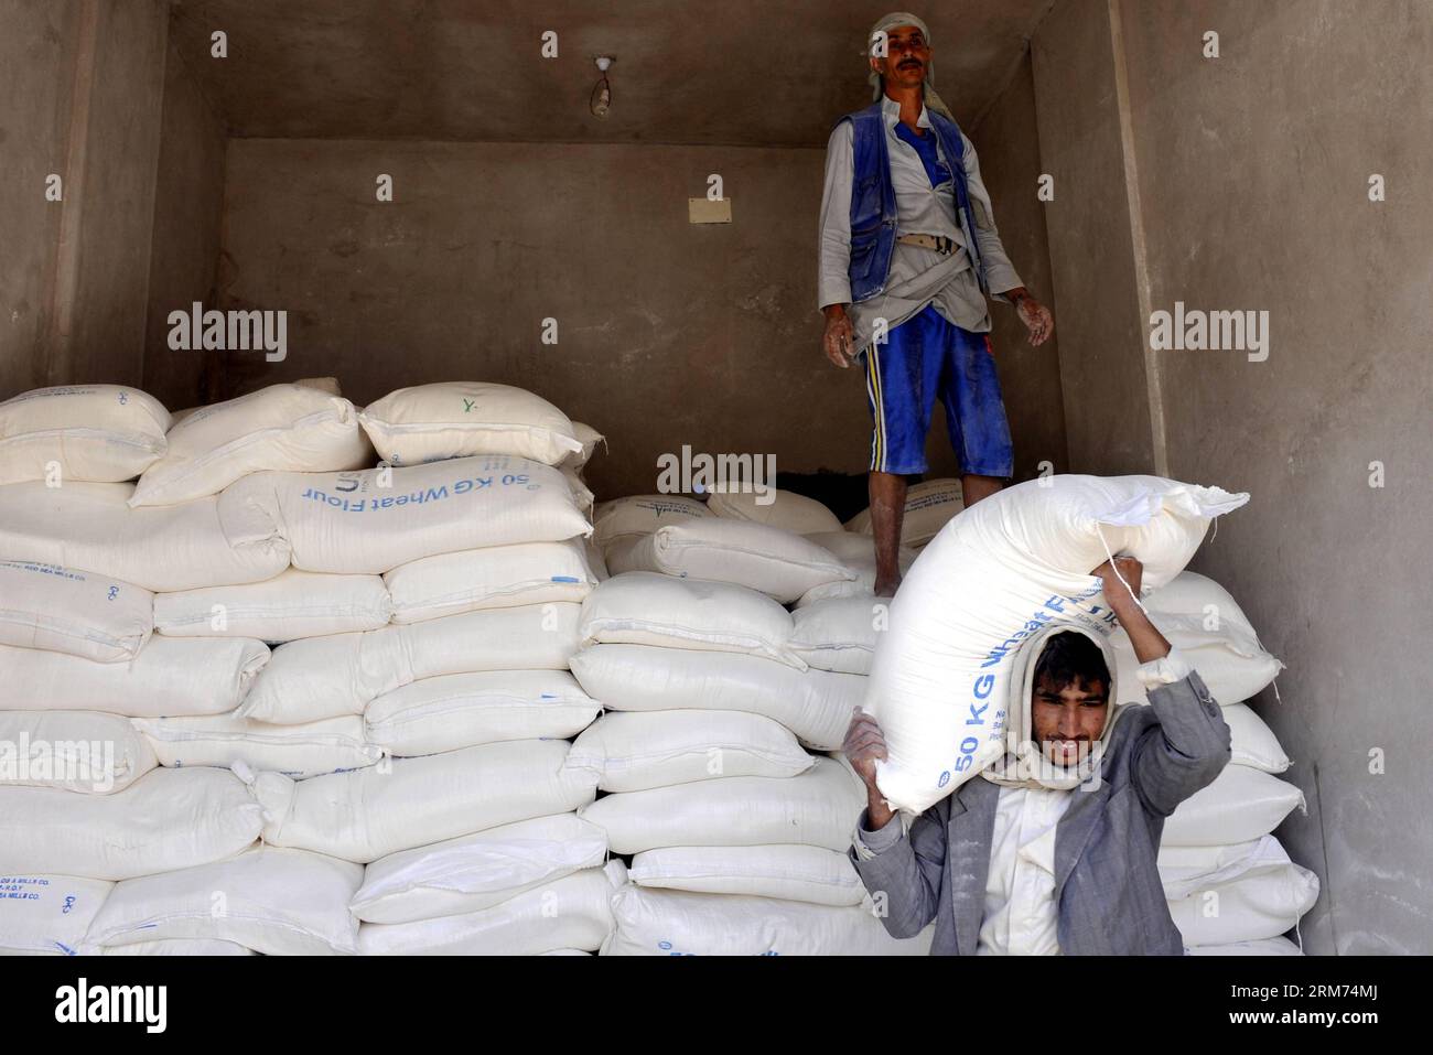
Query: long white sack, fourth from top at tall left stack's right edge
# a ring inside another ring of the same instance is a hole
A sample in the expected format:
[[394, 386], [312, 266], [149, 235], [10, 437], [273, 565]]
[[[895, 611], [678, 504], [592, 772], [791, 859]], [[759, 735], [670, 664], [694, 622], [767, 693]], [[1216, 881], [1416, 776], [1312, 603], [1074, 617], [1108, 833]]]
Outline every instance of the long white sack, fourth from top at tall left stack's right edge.
[[562, 671], [577, 649], [580, 614], [582, 605], [553, 601], [292, 641], [274, 649], [239, 717], [295, 725], [363, 714], [370, 701], [421, 678]]

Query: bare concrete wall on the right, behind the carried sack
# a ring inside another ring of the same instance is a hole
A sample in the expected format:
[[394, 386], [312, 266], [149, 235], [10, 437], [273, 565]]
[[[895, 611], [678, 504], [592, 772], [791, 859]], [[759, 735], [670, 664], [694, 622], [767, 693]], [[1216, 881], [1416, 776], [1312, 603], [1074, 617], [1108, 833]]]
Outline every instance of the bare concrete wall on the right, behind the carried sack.
[[[1141, 295], [1164, 310], [1179, 300], [1268, 311], [1271, 344], [1267, 361], [1250, 361], [1122, 337], [1111, 361], [1066, 325], [1066, 409], [1082, 391], [1112, 390], [1121, 406], [1148, 393], [1155, 413], [1138, 420], [1171, 474], [1252, 495], [1194, 566], [1288, 664], [1283, 702], [1265, 692], [1255, 710], [1310, 803], [1277, 833], [1324, 884], [1305, 947], [1426, 953], [1433, 142], [1409, 129], [1433, 119], [1433, 7], [1390, 0], [1379, 19], [1334, 0], [1115, 3], [1113, 20], [1109, 10], [1065, 0], [1035, 39], [1042, 155], [1066, 159], [1066, 185], [1080, 188], [1049, 212], [1063, 314], [1065, 277], [1088, 264], [1078, 238], [1134, 231], [1118, 282], [1082, 287], [1102, 305], [1122, 318]], [[1221, 36], [1219, 59], [1201, 54], [1207, 30]], [[1123, 99], [1111, 90], [1121, 67]], [[1122, 172], [1123, 199], [1099, 186]], [[1371, 173], [1387, 179], [1386, 202], [1369, 201]], [[1132, 449], [1106, 452], [1068, 420], [1076, 470], [1155, 467], [1131, 466]], [[1383, 487], [1370, 486], [1374, 462]], [[1370, 771], [1370, 753], [1384, 773]]]

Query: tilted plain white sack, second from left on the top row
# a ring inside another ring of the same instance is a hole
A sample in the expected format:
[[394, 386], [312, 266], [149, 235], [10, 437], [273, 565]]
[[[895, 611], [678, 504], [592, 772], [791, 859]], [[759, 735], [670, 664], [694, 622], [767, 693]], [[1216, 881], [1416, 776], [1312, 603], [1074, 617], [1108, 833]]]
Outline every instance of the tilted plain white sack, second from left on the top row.
[[196, 410], [169, 430], [168, 441], [129, 505], [191, 502], [264, 470], [322, 473], [373, 463], [354, 404], [302, 384], [272, 384]]

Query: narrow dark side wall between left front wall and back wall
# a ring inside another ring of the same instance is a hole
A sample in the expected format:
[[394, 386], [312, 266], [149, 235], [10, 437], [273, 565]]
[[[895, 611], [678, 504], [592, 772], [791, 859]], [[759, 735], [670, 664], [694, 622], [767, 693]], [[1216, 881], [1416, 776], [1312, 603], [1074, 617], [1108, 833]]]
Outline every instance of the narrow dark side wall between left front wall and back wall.
[[188, 56], [169, 42], [163, 132], [155, 186], [153, 249], [145, 337], [145, 391], [171, 410], [209, 401], [221, 391], [216, 358], [169, 348], [169, 312], [193, 301], [212, 305], [224, 211], [224, 120], [214, 112]]

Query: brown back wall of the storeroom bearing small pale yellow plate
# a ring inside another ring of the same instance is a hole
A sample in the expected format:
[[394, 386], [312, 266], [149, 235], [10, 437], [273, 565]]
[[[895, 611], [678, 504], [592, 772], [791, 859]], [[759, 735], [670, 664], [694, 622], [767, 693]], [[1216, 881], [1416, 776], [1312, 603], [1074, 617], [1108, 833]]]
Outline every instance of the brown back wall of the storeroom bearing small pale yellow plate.
[[[1015, 135], [1029, 153], [1029, 129]], [[1027, 163], [1012, 151], [1009, 168]], [[599, 495], [651, 490], [684, 443], [864, 472], [863, 377], [820, 351], [823, 165], [811, 149], [234, 139], [224, 305], [288, 310], [291, 351], [229, 355], [226, 376], [335, 374], [360, 403], [459, 377], [532, 388], [608, 433]], [[734, 222], [689, 225], [711, 172]], [[539, 340], [549, 317], [556, 345]], [[1022, 400], [1037, 381], [1010, 387]], [[1026, 462], [1055, 444], [1039, 429]], [[947, 443], [933, 453], [933, 474], [954, 472]]]

